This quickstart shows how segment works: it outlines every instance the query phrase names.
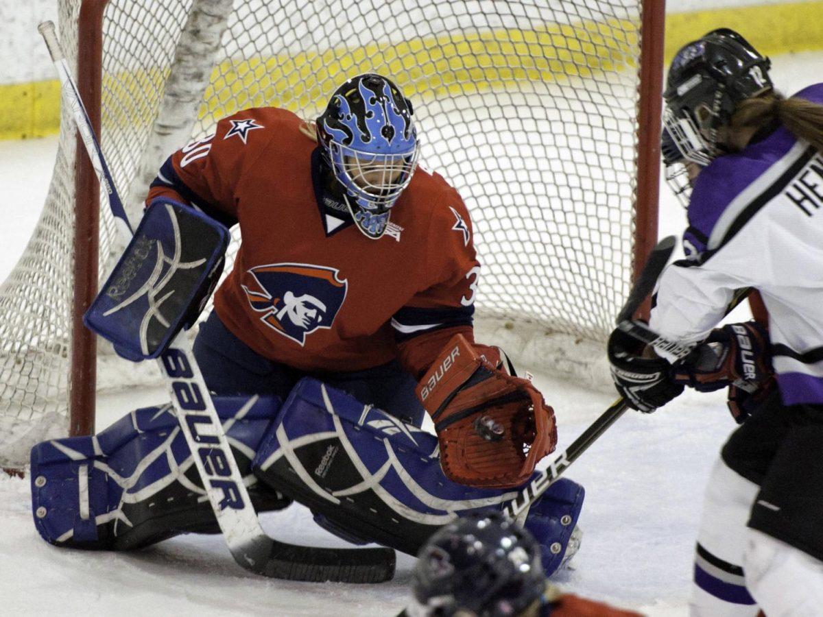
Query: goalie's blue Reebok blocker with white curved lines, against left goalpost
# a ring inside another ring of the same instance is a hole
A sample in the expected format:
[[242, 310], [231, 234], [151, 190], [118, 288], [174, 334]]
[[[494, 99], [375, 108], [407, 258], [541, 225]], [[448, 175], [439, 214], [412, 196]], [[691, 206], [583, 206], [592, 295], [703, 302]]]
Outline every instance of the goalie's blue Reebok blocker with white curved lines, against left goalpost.
[[151, 202], [83, 322], [128, 360], [158, 357], [223, 271], [229, 231], [191, 207]]

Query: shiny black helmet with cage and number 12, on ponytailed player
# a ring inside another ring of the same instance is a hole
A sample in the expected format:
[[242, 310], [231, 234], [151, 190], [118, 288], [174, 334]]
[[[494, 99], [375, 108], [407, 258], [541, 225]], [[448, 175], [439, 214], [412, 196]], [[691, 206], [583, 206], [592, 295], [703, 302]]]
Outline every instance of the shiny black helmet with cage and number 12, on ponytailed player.
[[728, 126], [742, 100], [773, 89], [770, 66], [769, 58], [728, 28], [712, 30], [677, 52], [663, 91], [663, 121], [683, 159], [709, 165], [723, 154], [718, 129]]

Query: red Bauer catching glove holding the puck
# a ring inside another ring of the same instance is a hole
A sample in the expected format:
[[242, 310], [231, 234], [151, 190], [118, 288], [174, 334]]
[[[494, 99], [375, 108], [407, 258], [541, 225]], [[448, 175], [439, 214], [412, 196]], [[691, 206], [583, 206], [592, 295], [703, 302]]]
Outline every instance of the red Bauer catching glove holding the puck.
[[435, 422], [444, 474], [463, 485], [523, 484], [555, 449], [554, 410], [528, 379], [505, 370], [493, 347], [455, 335], [417, 386]]

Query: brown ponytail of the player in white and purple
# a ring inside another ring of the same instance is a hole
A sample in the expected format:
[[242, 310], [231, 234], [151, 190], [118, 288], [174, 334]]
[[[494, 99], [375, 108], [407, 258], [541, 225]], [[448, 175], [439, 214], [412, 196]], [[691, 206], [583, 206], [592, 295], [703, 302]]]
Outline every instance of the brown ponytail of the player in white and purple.
[[737, 104], [730, 128], [761, 127], [773, 119], [823, 152], [823, 105], [797, 96], [786, 99], [774, 90]]

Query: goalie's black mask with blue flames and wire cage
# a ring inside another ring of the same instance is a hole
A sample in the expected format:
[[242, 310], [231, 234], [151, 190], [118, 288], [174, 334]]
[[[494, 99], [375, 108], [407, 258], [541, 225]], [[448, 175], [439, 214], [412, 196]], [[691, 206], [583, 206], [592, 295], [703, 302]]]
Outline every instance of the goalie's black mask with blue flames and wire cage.
[[420, 152], [412, 104], [385, 77], [353, 77], [317, 119], [317, 136], [357, 228], [380, 238]]

